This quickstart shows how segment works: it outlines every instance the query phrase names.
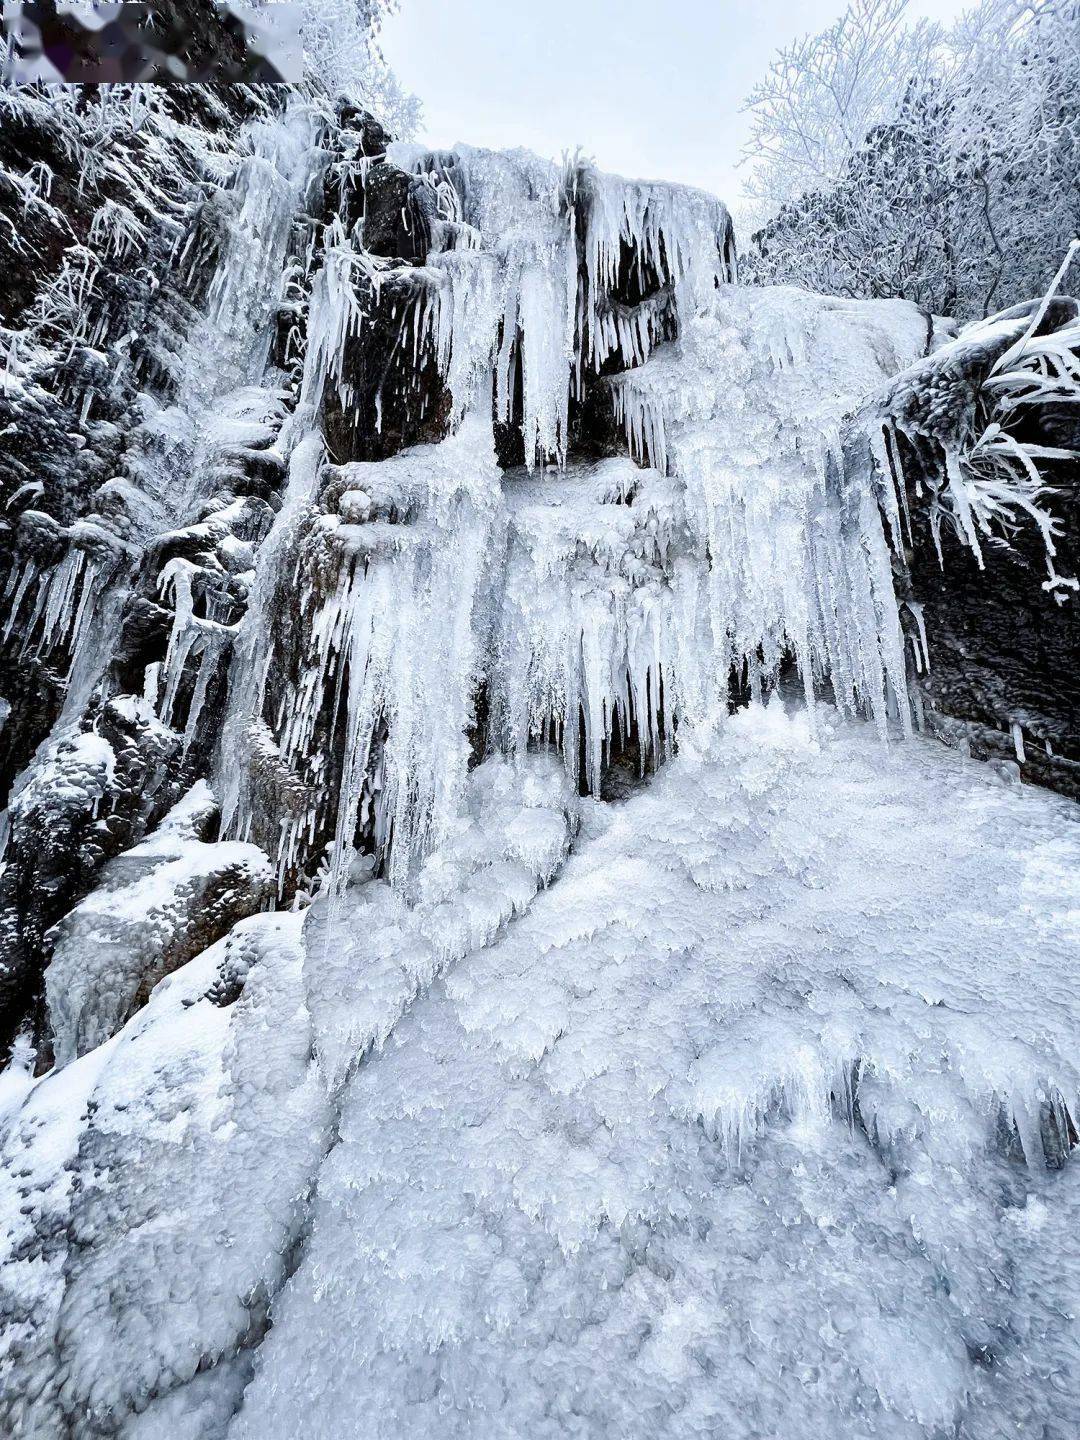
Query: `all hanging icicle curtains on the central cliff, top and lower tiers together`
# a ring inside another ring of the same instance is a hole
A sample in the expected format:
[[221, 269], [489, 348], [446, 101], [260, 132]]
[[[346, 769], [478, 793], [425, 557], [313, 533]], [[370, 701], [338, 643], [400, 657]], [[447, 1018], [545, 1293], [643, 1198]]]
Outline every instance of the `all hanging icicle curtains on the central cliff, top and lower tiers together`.
[[[327, 831], [336, 883], [359, 834], [405, 883], [452, 822], [477, 694], [488, 744], [553, 742], [593, 793], [615, 736], [658, 757], [791, 654], [808, 697], [831, 681], [845, 713], [906, 727], [886, 491], [840, 436], [922, 354], [919, 311], [744, 295], [727, 215], [693, 190], [521, 153], [389, 154], [415, 176], [431, 251], [387, 269], [333, 236], [298, 420], [328, 386], [356, 408], [348, 347], [389, 318], [415, 367], [433, 356], [449, 435], [377, 462], [327, 465], [315, 439], [294, 452], [266, 605], [238, 651], [230, 832], [269, 847], [284, 884]], [[652, 469], [569, 455], [589, 395]], [[531, 478], [500, 485], [492, 415]], [[276, 564], [295, 567], [308, 639], [275, 680]]]

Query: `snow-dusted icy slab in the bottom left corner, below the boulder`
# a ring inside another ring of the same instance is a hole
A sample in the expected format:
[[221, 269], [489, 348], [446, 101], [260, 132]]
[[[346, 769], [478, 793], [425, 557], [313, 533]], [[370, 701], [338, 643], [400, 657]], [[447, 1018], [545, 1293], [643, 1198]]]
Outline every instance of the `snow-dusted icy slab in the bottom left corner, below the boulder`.
[[327, 1145], [301, 919], [242, 922], [9, 1122], [6, 1433], [220, 1434], [239, 1361], [170, 1392], [258, 1335]]

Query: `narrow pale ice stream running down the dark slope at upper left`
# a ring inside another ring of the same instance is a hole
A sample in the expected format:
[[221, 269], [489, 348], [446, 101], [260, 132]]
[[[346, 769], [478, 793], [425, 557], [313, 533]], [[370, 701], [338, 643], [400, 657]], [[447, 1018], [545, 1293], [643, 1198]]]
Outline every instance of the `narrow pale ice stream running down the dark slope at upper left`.
[[[78, 721], [108, 660], [109, 638], [124, 599], [147, 553], [177, 526], [199, 514], [207, 472], [222, 446], [251, 429], [249, 387], [265, 379], [285, 251], [297, 207], [312, 173], [314, 127], [302, 104], [279, 122], [253, 121], [228, 193], [230, 215], [207, 305], [176, 356], [179, 386], [167, 408], [141, 396], [144, 418], [125, 452], [125, 475], [102, 488], [101, 514], [71, 527], [60, 564], [42, 575], [9, 579], [9, 625], [19, 621], [26, 645], [37, 652], [66, 647], [71, 674], [65, 717]], [[265, 403], [265, 400], [264, 400]], [[45, 517], [48, 520], [48, 517]], [[55, 524], [55, 521], [53, 521]], [[29, 613], [20, 605], [36, 585]], [[187, 592], [184, 592], [187, 593]], [[192, 654], [215, 660], [220, 639], [213, 621], [199, 621], [177, 605], [164, 681], [166, 708], [179, 671]], [[197, 720], [197, 714], [194, 717]]]

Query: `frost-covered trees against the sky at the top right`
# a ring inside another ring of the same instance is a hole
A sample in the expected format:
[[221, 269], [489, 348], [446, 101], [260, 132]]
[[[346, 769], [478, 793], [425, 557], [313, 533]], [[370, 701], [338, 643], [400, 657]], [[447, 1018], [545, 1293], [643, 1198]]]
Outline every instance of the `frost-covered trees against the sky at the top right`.
[[[1080, 230], [1080, 4], [984, 0], [936, 43], [922, 24], [903, 29], [904, 9], [886, 10], [900, 37], [848, 76], [858, 94], [845, 112], [873, 120], [861, 141], [844, 138], [819, 81], [837, 68], [844, 22], [782, 58], [798, 72], [786, 112], [762, 86], [752, 95], [749, 190], [773, 213], [747, 271], [984, 315], [1044, 291]], [[907, 66], [886, 85], [878, 65], [904, 45]]]

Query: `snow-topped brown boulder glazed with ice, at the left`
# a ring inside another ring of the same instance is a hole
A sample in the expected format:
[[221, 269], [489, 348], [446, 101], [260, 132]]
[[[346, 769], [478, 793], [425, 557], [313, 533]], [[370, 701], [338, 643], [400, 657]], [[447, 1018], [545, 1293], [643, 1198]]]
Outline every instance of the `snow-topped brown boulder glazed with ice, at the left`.
[[203, 838], [216, 814], [199, 782], [53, 927], [45, 985], [58, 1066], [114, 1035], [164, 975], [272, 900], [261, 850]]

